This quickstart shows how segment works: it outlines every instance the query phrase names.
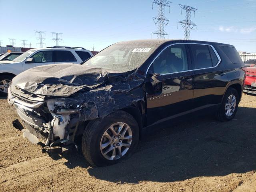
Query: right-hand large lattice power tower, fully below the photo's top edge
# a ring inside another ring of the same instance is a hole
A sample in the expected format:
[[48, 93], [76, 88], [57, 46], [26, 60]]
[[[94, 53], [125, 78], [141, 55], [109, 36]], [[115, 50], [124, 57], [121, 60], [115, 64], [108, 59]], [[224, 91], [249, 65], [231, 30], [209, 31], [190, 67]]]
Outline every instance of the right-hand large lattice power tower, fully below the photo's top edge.
[[[190, 6], [181, 5], [181, 4], [179, 4], [179, 6], [181, 7], [181, 14], [182, 14], [182, 9], [186, 10], [186, 19], [183, 21], [178, 21], [178, 24], [180, 23], [181, 26], [185, 29], [184, 39], [190, 39], [189, 38], [190, 29], [192, 29], [194, 26], [196, 26], [196, 24], [194, 24], [194, 22], [192, 22], [192, 20], [190, 20], [191, 12], [194, 12], [194, 17], [195, 17], [195, 11], [197, 9], [190, 7]], [[178, 26], [177, 26], [177, 28], [178, 28]]]

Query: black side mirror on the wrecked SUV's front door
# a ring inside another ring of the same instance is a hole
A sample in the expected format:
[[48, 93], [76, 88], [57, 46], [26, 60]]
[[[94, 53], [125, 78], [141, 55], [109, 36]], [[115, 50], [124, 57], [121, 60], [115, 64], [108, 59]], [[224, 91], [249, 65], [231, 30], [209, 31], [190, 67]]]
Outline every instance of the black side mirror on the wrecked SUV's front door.
[[150, 82], [146, 83], [148, 94], [161, 94], [163, 91], [162, 81], [158, 80], [159, 74], [150, 74]]

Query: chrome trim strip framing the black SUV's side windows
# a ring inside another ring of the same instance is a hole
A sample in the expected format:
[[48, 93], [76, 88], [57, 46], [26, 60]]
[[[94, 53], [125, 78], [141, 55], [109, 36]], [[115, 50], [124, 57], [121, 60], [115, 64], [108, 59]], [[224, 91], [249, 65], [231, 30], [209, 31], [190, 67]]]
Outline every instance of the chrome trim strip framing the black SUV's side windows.
[[168, 47], [172, 46], [172, 45], [178, 45], [178, 44], [196, 44], [196, 45], [208, 45], [208, 46], [211, 46], [212, 50], [214, 51], [214, 53], [216, 54], [217, 58], [218, 58], [218, 63], [213, 66], [213, 67], [207, 67], [207, 68], [200, 68], [200, 69], [191, 69], [191, 70], [186, 70], [186, 71], [179, 71], [179, 72], [172, 72], [172, 73], [165, 73], [165, 74], [160, 74], [160, 76], [162, 75], [168, 75], [168, 74], [176, 74], [176, 73], [182, 73], [182, 72], [188, 72], [188, 71], [195, 71], [195, 70], [202, 70], [202, 69], [210, 69], [210, 68], [216, 68], [220, 62], [221, 62], [221, 59], [220, 59], [220, 56], [218, 54], [218, 52], [216, 51], [216, 49], [214, 48], [214, 46], [210, 45], [210, 44], [203, 44], [203, 43], [174, 43], [174, 44], [170, 44], [168, 46], [166, 46], [155, 58], [154, 60], [150, 63], [150, 65], [148, 66], [148, 69], [146, 71], [146, 75], [145, 77], [147, 76], [148, 74], [148, 70], [150, 68], [150, 66], [152, 65], [152, 63], [156, 60], [156, 58]]

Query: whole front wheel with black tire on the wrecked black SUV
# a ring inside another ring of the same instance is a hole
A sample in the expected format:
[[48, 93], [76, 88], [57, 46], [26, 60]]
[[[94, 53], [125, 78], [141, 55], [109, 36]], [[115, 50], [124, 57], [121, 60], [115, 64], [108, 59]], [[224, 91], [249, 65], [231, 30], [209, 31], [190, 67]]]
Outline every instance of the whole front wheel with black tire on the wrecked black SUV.
[[[115, 135], [112, 135], [113, 129], [110, 129], [113, 125], [112, 127], [114, 130], [117, 130], [121, 123], [123, 123], [123, 128], [120, 130], [120, 134], [117, 134], [116, 137], [118, 136], [119, 138], [120, 136], [120, 139], [123, 138], [123, 140], [121, 140], [122, 142], [120, 142], [118, 138], [114, 138]], [[125, 135], [121, 137], [121, 134], [123, 134], [125, 130]], [[130, 135], [132, 135], [132, 139]], [[111, 140], [109, 138], [111, 138]], [[130, 138], [131, 140], [125, 138]], [[105, 118], [98, 118], [88, 123], [82, 136], [82, 152], [87, 162], [92, 166], [108, 166], [128, 158], [134, 150], [136, 150], [138, 140], [138, 123], [127, 112], [118, 110], [109, 114]], [[108, 146], [106, 147], [107, 144]], [[101, 149], [101, 147], [105, 148]], [[112, 148], [114, 149], [111, 150]], [[121, 149], [121, 154], [123, 154], [121, 157], [119, 156], [119, 149]], [[107, 152], [108, 150], [111, 151], [104, 156], [104, 152]], [[116, 156], [113, 155], [114, 152]], [[114, 158], [107, 159], [112, 157]]]

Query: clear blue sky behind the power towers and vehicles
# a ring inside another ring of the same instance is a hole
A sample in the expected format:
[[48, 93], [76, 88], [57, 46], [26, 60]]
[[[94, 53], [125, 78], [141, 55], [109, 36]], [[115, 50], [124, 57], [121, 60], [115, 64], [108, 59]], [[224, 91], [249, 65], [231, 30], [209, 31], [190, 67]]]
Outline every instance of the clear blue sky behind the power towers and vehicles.
[[[165, 31], [169, 38], [184, 38], [177, 22], [185, 19], [178, 4], [198, 9], [192, 21], [197, 31], [190, 32], [192, 40], [207, 40], [233, 44], [237, 50], [256, 52], [256, 0], [173, 0], [170, 20]], [[46, 31], [46, 46], [54, 46], [51, 32], [63, 33], [62, 46], [82, 46], [96, 50], [123, 40], [149, 39], [157, 30], [152, 17], [157, 6], [152, 0], [0, 0], [0, 40], [28, 40], [38, 47], [34, 30]], [[156, 38], [156, 36], [153, 36]]]

